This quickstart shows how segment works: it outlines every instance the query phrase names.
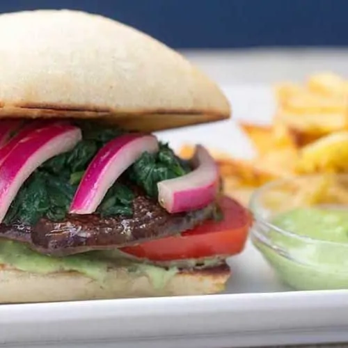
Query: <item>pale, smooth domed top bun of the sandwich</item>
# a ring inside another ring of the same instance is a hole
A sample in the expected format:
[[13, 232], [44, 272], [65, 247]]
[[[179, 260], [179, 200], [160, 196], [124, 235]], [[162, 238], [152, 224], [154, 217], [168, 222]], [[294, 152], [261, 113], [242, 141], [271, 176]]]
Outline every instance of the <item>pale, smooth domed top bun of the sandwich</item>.
[[0, 15], [0, 118], [101, 118], [155, 131], [230, 116], [216, 84], [145, 33], [74, 10]]

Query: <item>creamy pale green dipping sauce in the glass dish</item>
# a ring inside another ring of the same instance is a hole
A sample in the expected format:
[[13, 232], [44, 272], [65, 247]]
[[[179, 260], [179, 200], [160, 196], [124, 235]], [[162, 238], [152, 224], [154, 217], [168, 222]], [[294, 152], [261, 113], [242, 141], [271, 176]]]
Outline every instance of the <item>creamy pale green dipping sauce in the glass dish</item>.
[[348, 209], [301, 207], [271, 222], [292, 233], [262, 232], [265, 243], [256, 232], [253, 242], [285, 283], [297, 290], [348, 288]]

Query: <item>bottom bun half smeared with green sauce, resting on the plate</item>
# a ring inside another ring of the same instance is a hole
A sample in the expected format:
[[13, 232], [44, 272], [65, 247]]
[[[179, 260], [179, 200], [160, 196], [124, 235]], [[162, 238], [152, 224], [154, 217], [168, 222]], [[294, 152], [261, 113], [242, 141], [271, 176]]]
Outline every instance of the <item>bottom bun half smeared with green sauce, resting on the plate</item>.
[[0, 303], [215, 294], [224, 290], [229, 276], [226, 264], [176, 274], [168, 271], [168, 278], [160, 284], [123, 268], [109, 270], [100, 282], [75, 271], [34, 274], [4, 267], [0, 271]]

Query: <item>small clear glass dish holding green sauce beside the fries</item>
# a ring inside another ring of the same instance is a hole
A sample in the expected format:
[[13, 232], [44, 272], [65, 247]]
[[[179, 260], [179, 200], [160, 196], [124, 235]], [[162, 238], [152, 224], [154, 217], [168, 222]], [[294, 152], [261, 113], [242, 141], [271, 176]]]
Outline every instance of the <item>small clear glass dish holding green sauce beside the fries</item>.
[[283, 282], [296, 290], [348, 289], [348, 175], [270, 182], [249, 208], [251, 240]]

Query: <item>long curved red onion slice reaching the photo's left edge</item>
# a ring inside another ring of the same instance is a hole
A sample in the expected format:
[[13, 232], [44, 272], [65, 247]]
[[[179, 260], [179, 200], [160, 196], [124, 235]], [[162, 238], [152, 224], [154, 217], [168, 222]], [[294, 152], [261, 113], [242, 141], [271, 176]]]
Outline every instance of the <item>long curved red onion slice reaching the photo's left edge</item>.
[[70, 125], [35, 129], [21, 139], [0, 166], [0, 223], [25, 180], [38, 166], [72, 150], [81, 140], [81, 130]]

